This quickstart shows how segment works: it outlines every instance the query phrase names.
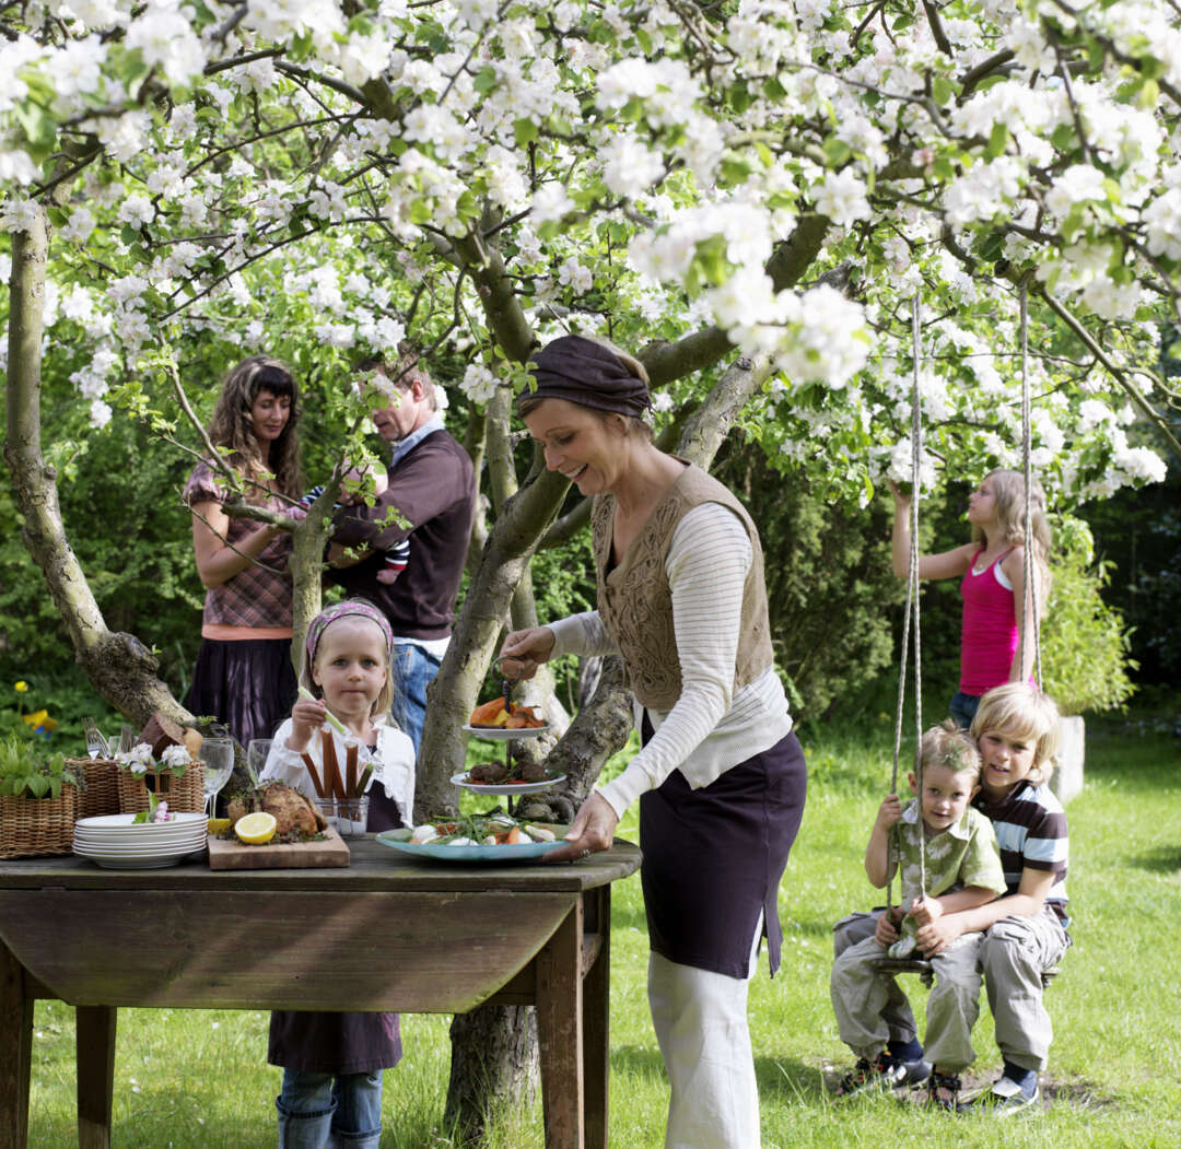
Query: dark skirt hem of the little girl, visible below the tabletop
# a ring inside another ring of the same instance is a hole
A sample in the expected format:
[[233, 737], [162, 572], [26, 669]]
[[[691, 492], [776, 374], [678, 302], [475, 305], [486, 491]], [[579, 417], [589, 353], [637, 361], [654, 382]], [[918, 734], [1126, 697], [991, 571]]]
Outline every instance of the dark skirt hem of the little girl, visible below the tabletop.
[[267, 1060], [302, 1073], [372, 1073], [402, 1060], [397, 1013], [270, 1014]]

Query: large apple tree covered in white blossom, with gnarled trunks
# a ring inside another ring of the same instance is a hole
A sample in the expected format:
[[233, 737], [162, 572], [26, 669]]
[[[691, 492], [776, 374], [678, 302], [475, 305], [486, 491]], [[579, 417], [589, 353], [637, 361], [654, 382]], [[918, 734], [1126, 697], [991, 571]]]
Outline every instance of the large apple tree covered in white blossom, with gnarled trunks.
[[71, 418], [146, 418], [200, 450], [182, 412], [208, 411], [208, 365], [267, 350], [355, 452], [351, 359], [403, 338], [463, 355], [449, 383], [496, 520], [428, 725], [432, 802], [567, 495], [513, 466], [509, 397], [540, 341], [638, 350], [658, 419], [737, 423], [834, 498], [903, 474], [915, 380], [925, 485], [1017, 463], [1023, 364], [1059, 504], [1159, 478], [1137, 430], [1177, 448], [1157, 365], [1179, 320], [1179, 25], [1164, 0], [0, 7], [6, 457], [87, 672], [129, 713], [168, 701], [54, 517], [50, 366]]

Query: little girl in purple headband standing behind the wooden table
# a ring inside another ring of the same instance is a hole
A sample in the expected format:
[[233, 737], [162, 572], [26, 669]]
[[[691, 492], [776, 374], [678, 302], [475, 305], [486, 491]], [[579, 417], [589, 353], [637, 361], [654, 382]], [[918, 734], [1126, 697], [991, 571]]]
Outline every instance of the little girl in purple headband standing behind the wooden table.
[[[415, 749], [390, 724], [393, 633], [385, 615], [351, 599], [321, 611], [307, 628], [302, 684], [318, 697], [300, 697], [275, 733], [262, 781], [278, 779], [309, 797], [315, 789], [304, 765], [321, 766], [320, 731], [331, 711], [374, 766], [370, 824], [379, 808], [381, 828], [410, 824], [415, 803]], [[334, 736], [337, 737], [337, 736]], [[337, 747], [344, 760], [344, 742]], [[381, 792], [384, 790], [384, 794]], [[397, 1013], [315, 1013], [275, 1010], [267, 1060], [283, 1069], [275, 1108], [280, 1149], [347, 1144], [377, 1149], [381, 1136], [381, 1073], [402, 1058]], [[332, 1140], [329, 1140], [332, 1138]]]

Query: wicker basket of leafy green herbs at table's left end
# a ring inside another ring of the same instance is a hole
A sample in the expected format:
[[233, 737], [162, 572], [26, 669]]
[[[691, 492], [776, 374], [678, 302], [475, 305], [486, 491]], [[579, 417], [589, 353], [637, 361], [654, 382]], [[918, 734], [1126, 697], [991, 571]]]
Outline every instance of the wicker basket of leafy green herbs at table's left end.
[[84, 785], [63, 755], [17, 737], [0, 740], [0, 857], [70, 854]]

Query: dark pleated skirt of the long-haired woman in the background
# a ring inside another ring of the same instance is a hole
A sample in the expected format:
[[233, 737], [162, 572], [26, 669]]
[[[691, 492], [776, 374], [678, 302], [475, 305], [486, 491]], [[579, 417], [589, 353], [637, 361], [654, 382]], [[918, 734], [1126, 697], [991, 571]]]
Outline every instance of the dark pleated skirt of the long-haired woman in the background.
[[244, 746], [291, 717], [296, 685], [289, 639], [202, 639], [184, 705], [226, 723]]

